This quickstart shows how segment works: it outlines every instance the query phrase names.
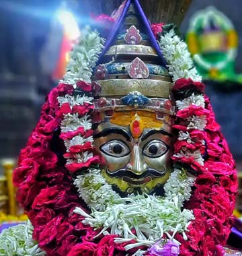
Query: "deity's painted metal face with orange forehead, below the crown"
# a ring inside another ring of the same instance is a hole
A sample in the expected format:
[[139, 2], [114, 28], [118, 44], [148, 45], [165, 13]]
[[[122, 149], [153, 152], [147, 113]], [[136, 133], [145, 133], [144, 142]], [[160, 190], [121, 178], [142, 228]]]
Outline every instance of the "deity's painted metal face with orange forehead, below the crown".
[[171, 127], [145, 111], [116, 111], [99, 123], [95, 148], [106, 162], [102, 174], [121, 195], [163, 194], [171, 172]]

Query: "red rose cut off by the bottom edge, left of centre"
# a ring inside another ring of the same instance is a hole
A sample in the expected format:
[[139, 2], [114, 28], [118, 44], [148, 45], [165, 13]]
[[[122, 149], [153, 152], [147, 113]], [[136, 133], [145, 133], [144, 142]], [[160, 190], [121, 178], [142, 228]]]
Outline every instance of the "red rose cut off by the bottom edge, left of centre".
[[72, 247], [67, 256], [93, 256], [96, 249], [97, 245], [95, 243], [83, 242]]

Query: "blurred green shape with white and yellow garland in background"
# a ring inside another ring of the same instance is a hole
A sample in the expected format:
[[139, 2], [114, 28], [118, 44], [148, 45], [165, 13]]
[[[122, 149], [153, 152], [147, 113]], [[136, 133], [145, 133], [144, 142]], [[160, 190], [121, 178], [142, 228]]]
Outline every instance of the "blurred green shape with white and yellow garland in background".
[[231, 20], [215, 7], [192, 16], [186, 42], [204, 79], [242, 83], [242, 75], [235, 73], [237, 32]]

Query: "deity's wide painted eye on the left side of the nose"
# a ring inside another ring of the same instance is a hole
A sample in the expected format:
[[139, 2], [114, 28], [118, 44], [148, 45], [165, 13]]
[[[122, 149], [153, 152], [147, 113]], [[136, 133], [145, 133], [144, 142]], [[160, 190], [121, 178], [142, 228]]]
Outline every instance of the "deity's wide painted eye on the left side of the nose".
[[127, 156], [130, 153], [130, 149], [126, 143], [120, 140], [110, 140], [100, 147], [100, 150], [109, 156], [114, 156], [115, 158], [120, 158], [122, 156]]

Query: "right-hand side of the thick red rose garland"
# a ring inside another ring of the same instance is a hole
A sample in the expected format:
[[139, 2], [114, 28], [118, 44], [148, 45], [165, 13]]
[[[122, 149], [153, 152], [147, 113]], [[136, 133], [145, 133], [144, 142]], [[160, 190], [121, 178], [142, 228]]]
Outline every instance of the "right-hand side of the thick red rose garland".
[[[173, 88], [175, 96], [181, 96], [186, 92], [203, 92], [200, 83], [194, 83], [190, 79], [179, 79]], [[235, 207], [235, 195], [237, 191], [237, 172], [235, 162], [225, 138], [220, 133], [220, 127], [216, 123], [210, 101], [205, 97], [205, 108], [198, 109], [190, 106], [186, 111], [177, 112], [176, 129], [187, 131], [184, 127], [184, 119], [192, 115], [206, 115], [207, 124], [204, 131], [190, 130], [190, 137], [204, 139], [204, 145], [199, 143], [180, 145], [175, 143], [175, 150], [181, 146], [189, 150], [200, 150], [204, 154], [204, 166], [194, 163], [194, 159], [175, 159], [179, 164], [190, 164], [198, 172], [194, 193], [187, 203], [186, 208], [194, 211], [195, 220], [188, 229], [188, 241], [184, 241], [180, 234], [176, 238], [182, 243], [180, 255], [223, 255], [225, 245], [230, 233], [232, 214]]]

